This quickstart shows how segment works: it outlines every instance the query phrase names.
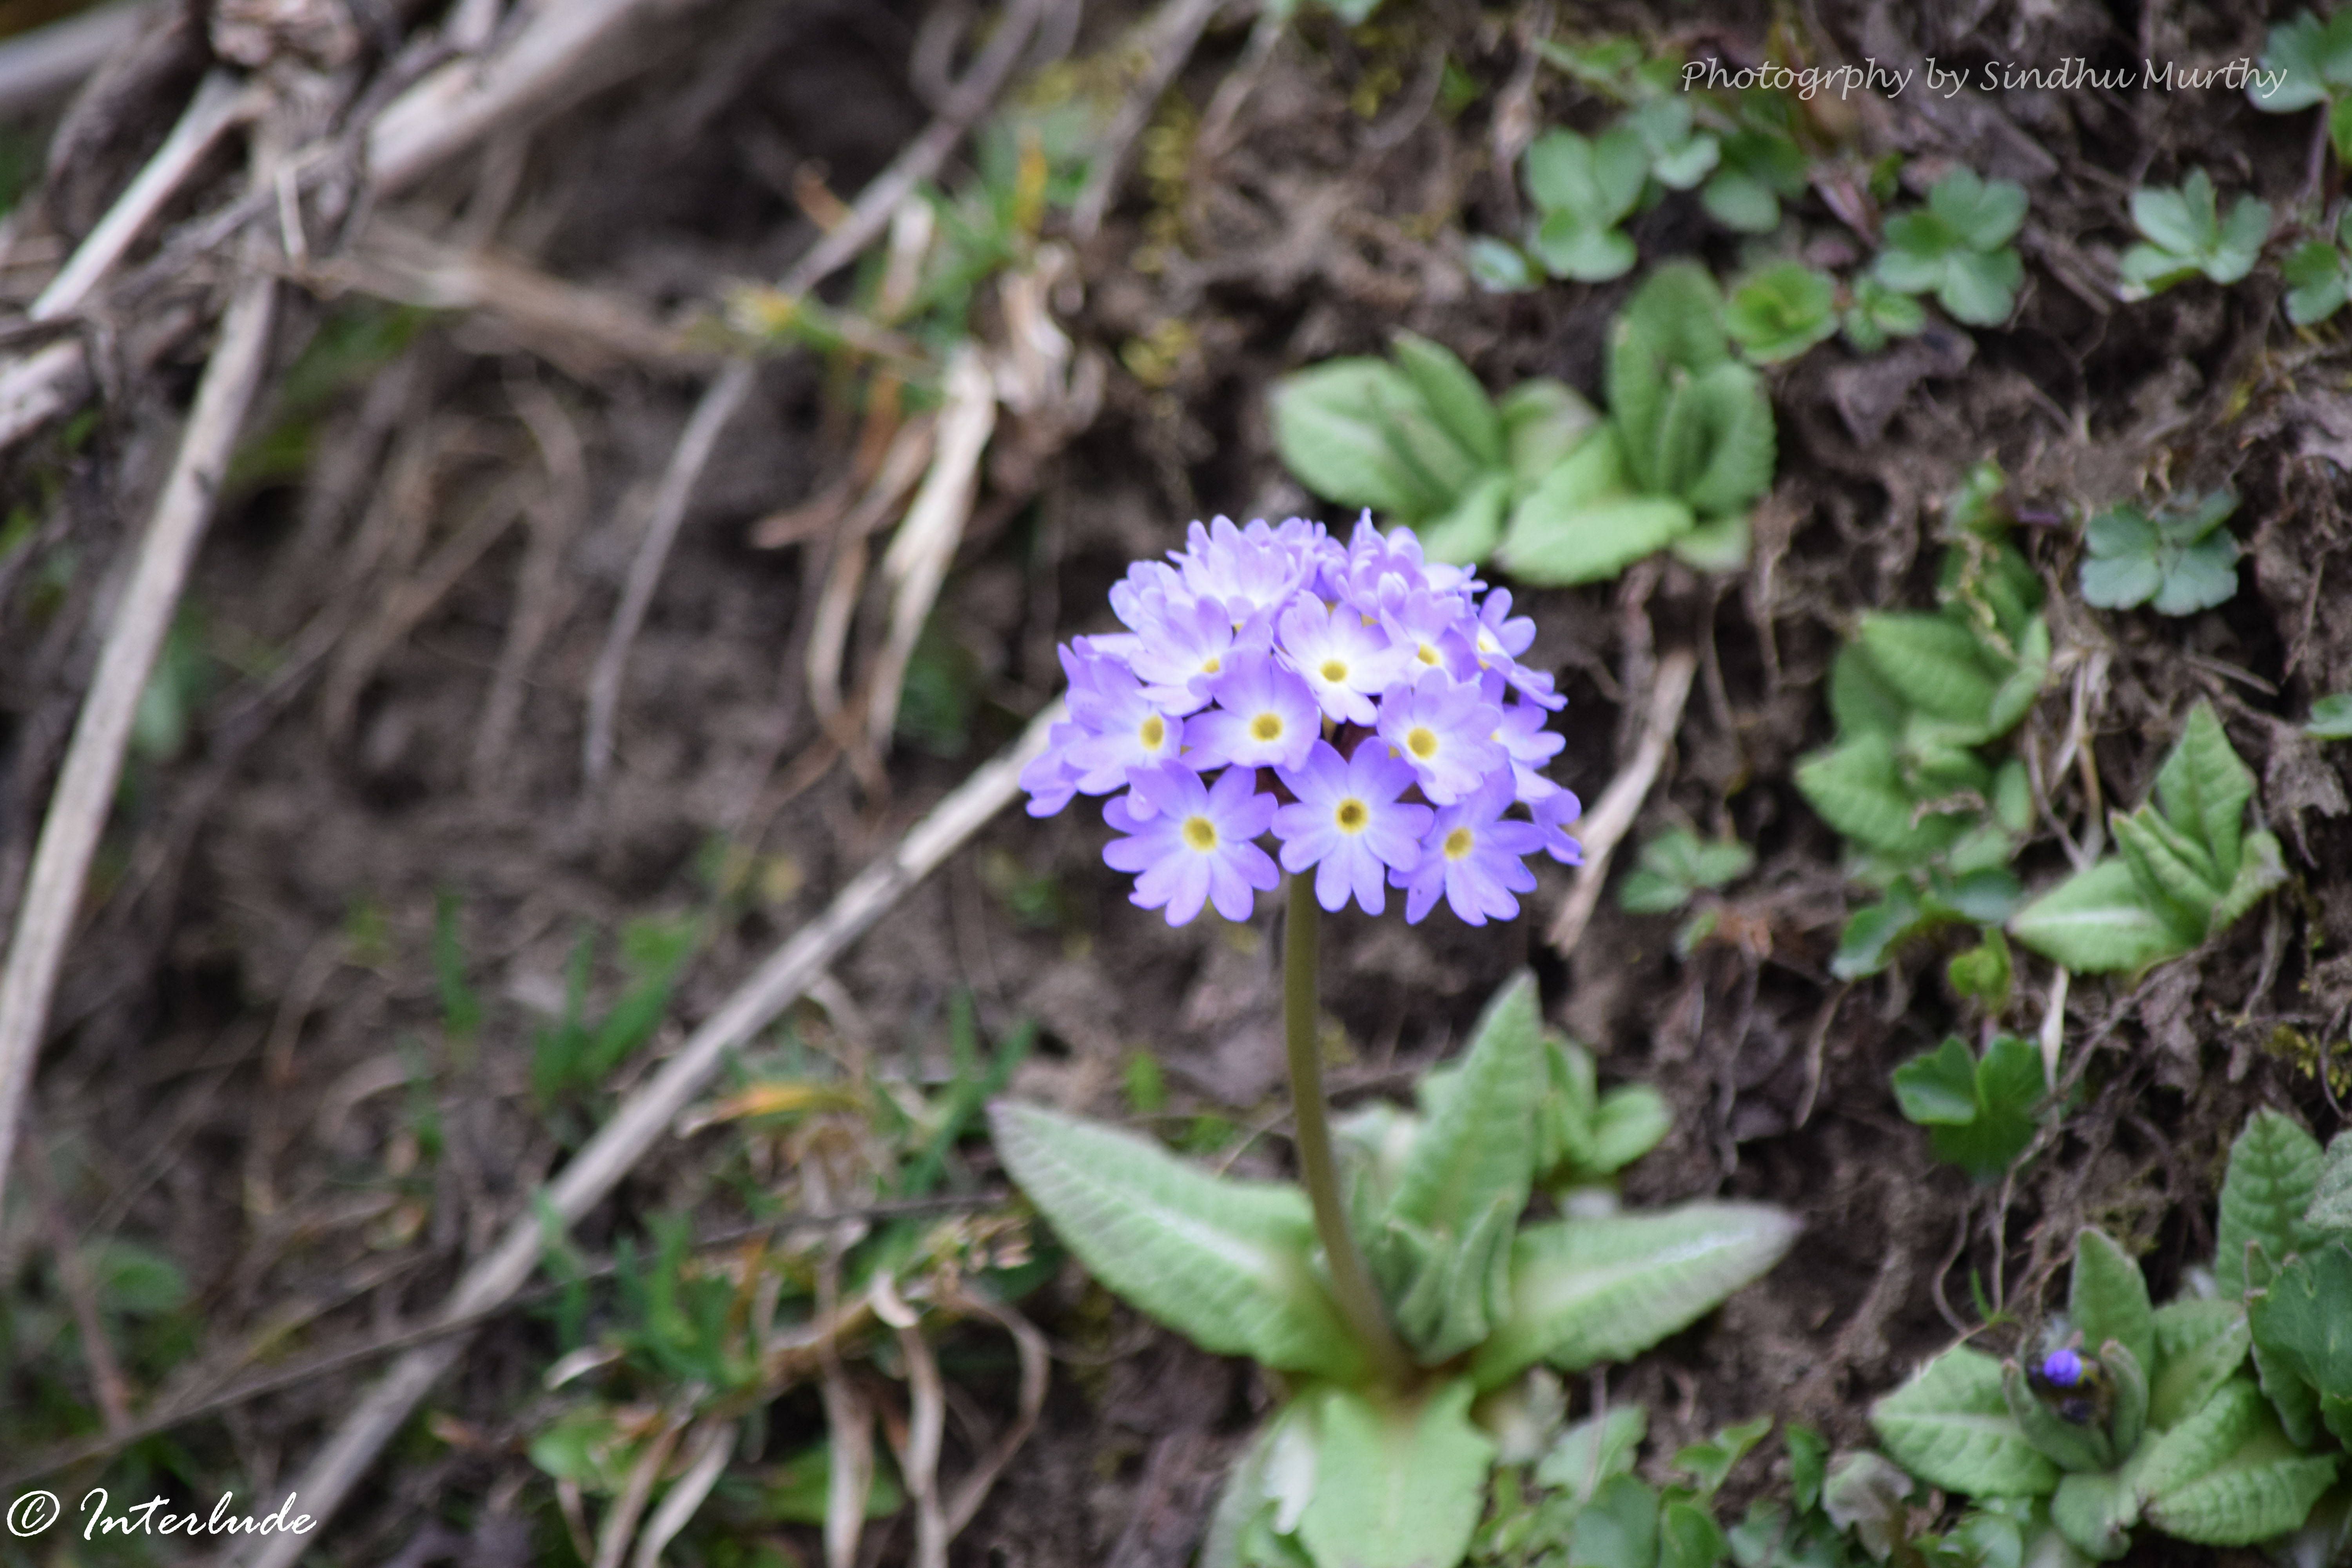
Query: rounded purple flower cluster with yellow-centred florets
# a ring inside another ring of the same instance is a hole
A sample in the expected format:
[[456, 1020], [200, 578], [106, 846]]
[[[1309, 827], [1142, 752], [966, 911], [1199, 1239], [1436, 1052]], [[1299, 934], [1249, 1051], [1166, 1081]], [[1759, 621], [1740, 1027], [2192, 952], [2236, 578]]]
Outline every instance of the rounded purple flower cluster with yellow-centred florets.
[[1103, 860], [1171, 926], [1204, 903], [1247, 919], [1282, 879], [1268, 830], [1324, 910], [1378, 914], [1402, 889], [1409, 922], [1439, 898], [1472, 926], [1510, 919], [1536, 886], [1526, 856], [1581, 860], [1581, 806], [1541, 771], [1566, 698], [1519, 663], [1536, 623], [1510, 616], [1508, 590], [1425, 562], [1411, 529], [1383, 536], [1367, 512], [1341, 545], [1301, 517], [1195, 522], [1110, 609], [1124, 632], [1061, 649], [1070, 719], [1021, 788], [1030, 816], [1110, 795], [1124, 837]]

